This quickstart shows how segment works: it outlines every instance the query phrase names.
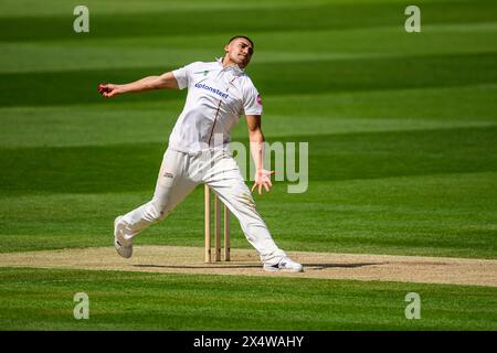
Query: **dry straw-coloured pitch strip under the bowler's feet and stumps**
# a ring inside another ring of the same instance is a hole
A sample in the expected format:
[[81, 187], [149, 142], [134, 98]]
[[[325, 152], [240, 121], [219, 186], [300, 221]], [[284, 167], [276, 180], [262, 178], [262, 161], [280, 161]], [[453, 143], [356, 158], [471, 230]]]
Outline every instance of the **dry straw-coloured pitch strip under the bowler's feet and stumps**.
[[254, 250], [234, 249], [229, 263], [203, 263], [203, 248], [135, 246], [130, 259], [114, 247], [73, 248], [0, 255], [0, 267], [71, 268], [321, 279], [382, 280], [497, 287], [497, 260], [448, 257], [288, 252], [305, 266], [302, 274], [266, 272]]

